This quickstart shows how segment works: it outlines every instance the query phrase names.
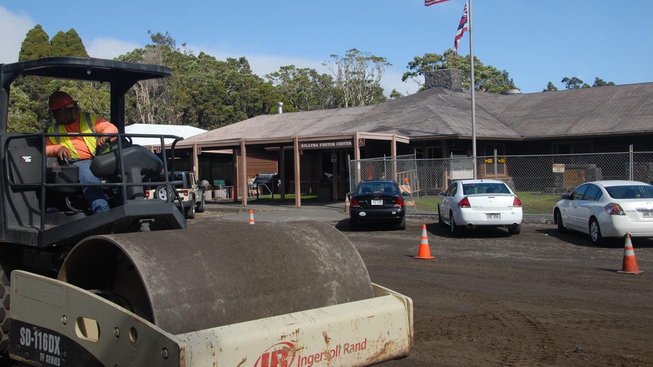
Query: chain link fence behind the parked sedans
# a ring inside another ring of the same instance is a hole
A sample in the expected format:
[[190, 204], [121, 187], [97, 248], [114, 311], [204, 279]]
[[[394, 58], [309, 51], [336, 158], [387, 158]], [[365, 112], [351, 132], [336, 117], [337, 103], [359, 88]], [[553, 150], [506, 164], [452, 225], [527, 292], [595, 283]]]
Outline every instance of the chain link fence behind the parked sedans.
[[415, 155], [349, 161], [349, 191], [362, 180], [394, 180], [410, 192], [407, 212], [437, 214], [441, 193], [455, 180], [502, 180], [522, 201], [524, 214], [552, 215], [562, 194], [584, 182], [653, 183], [653, 152], [504, 155], [416, 159]]

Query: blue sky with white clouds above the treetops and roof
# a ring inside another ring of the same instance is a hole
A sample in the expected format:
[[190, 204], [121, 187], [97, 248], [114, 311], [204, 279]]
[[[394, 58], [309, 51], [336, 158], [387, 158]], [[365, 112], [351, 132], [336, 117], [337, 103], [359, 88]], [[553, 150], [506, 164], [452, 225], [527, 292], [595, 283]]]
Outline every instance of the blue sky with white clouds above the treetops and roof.
[[[320, 72], [331, 54], [350, 48], [387, 57], [381, 86], [414, 93], [406, 65], [453, 48], [464, 0], [424, 7], [423, 0], [285, 1], [7, 1], [0, 0], [0, 63], [18, 60], [36, 24], [50, 37], [74, 28], [91, 57], [112, 58], [168, 31], [197, 55], [245, 56], [264, 76], [283, 65]], [[653, 1], [473, 0], [474, 55], [509, 72], [523, 93], [549, 81], [597, 76], [615, 84], [653, 82]], [[639, 20], [639, 18], [642, 20]], [[459, 54], [469, 54], [469, 33]]]

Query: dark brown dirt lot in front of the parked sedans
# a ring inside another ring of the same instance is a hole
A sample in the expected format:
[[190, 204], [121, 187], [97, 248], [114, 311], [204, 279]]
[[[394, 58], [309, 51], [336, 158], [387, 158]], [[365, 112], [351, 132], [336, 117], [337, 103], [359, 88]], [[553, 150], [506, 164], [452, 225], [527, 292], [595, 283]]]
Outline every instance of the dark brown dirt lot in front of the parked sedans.
[[374, 283], [413, 299], [409, 357], [380, 366], [653, 366], [653, 239], [634, 238], [640, 270], [617, 274], [624, 240], [522, 225], [452, 238], [426, 223], [434, 260], [416, 260], [422, 222], [351, 232]]

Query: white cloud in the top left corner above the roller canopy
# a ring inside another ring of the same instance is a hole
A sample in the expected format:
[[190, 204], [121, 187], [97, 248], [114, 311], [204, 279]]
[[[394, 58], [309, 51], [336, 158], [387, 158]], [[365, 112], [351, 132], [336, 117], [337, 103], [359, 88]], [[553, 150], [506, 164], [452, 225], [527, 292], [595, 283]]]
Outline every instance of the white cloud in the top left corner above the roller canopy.
[[27, 14], [14, 14], [0, 6], [0, 63], [18, 61], [20, 46], [35, 22]]

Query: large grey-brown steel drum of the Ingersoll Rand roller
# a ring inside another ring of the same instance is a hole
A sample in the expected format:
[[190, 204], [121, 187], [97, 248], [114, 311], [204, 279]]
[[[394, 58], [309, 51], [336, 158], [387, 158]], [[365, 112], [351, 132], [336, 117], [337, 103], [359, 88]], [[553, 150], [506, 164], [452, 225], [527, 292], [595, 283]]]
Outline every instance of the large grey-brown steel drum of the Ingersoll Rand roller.
[[100, 290], [171, 334], [373, 296], [358, 251], [317, 221], [92, 236], [59, 279]]

